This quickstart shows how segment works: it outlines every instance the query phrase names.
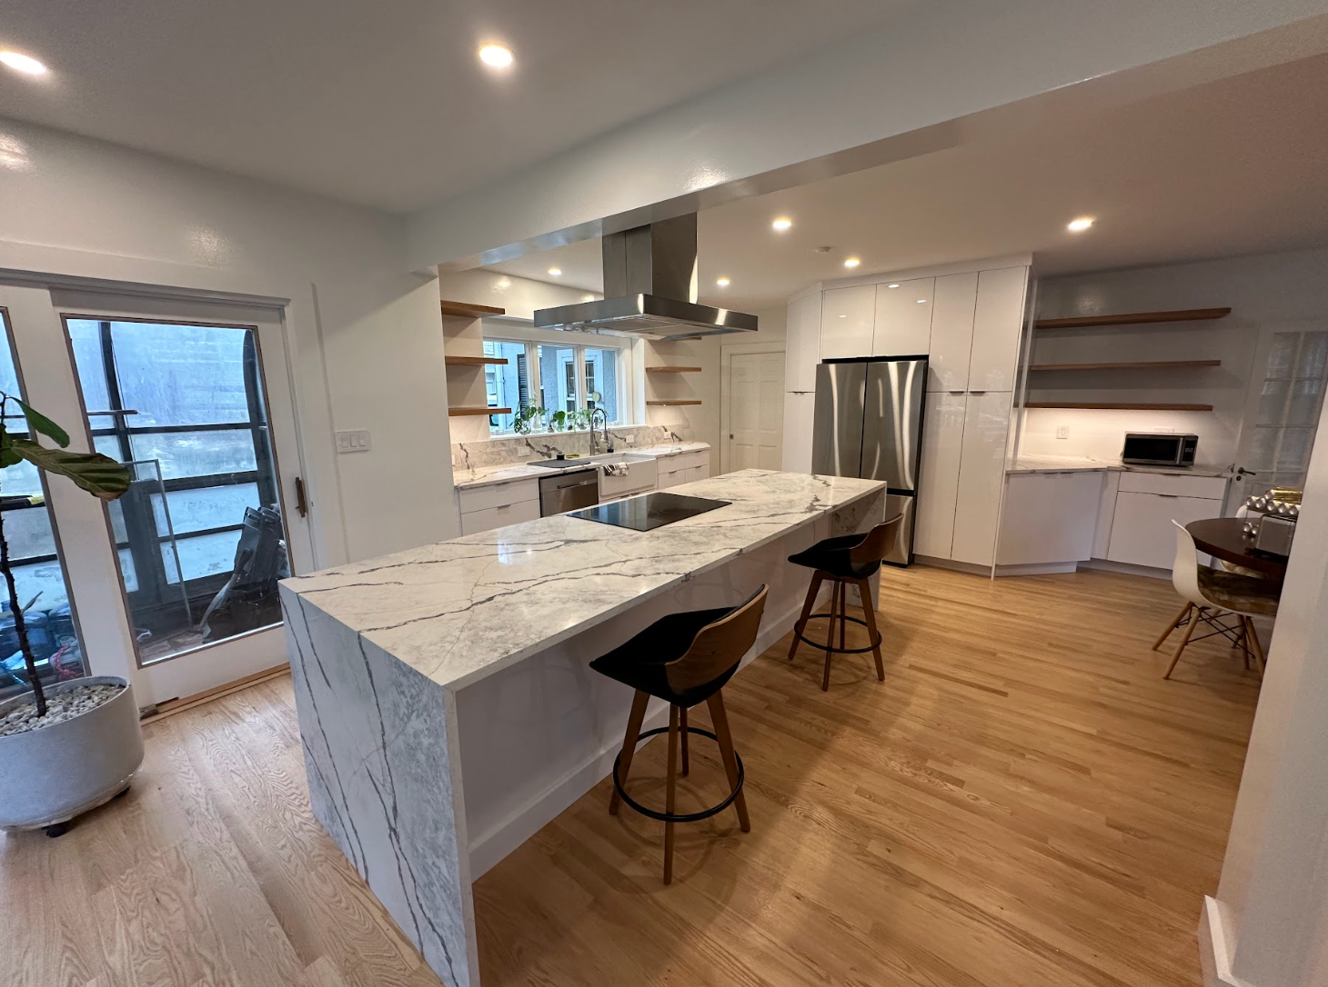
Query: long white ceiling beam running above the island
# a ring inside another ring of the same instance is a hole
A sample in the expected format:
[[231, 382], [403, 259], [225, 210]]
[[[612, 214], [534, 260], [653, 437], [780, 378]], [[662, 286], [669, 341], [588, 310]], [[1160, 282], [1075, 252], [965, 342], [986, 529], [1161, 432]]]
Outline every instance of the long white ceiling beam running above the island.
[[497, 264], [1323, 52], [1328, 0], [924, 4], [412, 214], [410, 263]]

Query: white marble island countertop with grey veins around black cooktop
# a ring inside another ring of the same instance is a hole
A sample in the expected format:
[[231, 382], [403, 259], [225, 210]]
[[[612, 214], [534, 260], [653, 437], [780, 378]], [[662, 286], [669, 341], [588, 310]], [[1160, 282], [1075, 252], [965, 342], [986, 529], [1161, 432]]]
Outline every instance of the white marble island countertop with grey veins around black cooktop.
[[301, 610], [316, 608], [459, 689], [884, 488], [742, 470], [673, 488], [732, 503], [655, 531], [554, 515], [282, 586]]

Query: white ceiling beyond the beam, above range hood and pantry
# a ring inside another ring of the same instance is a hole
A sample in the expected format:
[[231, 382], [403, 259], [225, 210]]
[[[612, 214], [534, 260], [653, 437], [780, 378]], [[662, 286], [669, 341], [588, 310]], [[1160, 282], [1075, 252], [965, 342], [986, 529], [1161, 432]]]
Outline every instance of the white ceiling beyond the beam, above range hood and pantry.
[[[1046, 276], [1328, 244], [1325, 92], [1320, 56], [728, 203], [699, 218], [701, 300], [761, 309], [814, 281], [1005, 253]], [[1084, 214], [1097, 224], [1069, 233]], [[772, 232], [778, 215], [793, 230]], [[495, 269], [551, 281], [551, 265], [600, 291], [598, 240]]]

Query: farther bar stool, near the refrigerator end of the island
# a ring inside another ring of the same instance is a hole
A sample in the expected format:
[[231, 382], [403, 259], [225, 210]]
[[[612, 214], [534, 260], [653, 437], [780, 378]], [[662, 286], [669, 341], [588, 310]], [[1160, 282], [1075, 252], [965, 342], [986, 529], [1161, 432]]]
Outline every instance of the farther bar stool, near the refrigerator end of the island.
[[[791, 662], [793, 657], [798, 653], [799, 642], [806, 642], [825, 651], [826, 670], [821, 679], [822, 692], [830, 691], [830, 657], [835, 654], [865, 654], [871, 651], [876, 659], [876, 678], [880, 682], [886, 681], [886, 666], [880, 658], [880, 631], [876, 630], [876, 609], [871, 602], [871, 584], [867, 580], [876, 573], [880, 562], [890, 553], [891, 547], [899, 537], [899, 528], [903, 525], [903, 520], [904, 516], [899, 513], [884, 524], [878, 524], [866, 535], [842, 535], [834, 539], [825, 539], [805, 552], [789, 556], [789, 561], [794, 565], [803, 565], [813, 569], [811, 585], [807, 586], [807, 598], [802, 604], [802, 616], [798, 617], [798, 622], [793, 626], [793, 645], [789, 647], [789, 661]], [[834, 589], [830, 592], [830, 613], [814, 614], [811, 610], [817, 605], [817, 593], [821, 592], [821, 584], [826, 580], [834, 582]], [[865, 621], [849, 617], [845, 613], [845, 593], [850, 582], [862, 594], [862, 616], [866, 617]], [[835, 613], [837, 609], [838, 614]], [[834, 646], [834, 622], [837, 616], [839, 618], [838, 647]], [[826, 634], [823, 645], [811, 641], [803, 634], [809, 620], [821, 618], [830, 621], [830, 630]], [[871, 641], [867, 647], [845, 647], [846, 621], [867, 629], [867, 638]]]

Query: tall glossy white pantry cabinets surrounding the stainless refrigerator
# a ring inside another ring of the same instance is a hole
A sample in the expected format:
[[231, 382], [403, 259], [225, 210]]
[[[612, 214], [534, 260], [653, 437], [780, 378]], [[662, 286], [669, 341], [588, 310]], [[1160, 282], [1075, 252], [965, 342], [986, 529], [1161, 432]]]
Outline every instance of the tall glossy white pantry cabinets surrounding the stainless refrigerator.
[[821, 360], [926, 354], [914, 552], [993, 565], [1029, 263], [900, 272], [795, 296], [785, 344], [784, 468], [811, 468]]

